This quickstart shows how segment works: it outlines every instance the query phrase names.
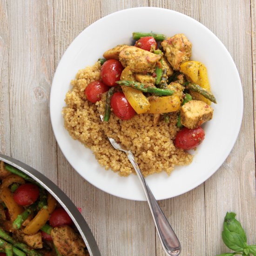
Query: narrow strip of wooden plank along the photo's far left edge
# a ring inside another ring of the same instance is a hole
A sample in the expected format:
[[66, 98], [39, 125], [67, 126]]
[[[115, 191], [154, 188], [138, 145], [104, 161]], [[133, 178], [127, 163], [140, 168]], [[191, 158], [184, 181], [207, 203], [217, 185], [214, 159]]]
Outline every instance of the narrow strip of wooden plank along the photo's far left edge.
[[0, 1], [0, 153], [11, 155], [9, 104], [9, 24], [7, 2]]

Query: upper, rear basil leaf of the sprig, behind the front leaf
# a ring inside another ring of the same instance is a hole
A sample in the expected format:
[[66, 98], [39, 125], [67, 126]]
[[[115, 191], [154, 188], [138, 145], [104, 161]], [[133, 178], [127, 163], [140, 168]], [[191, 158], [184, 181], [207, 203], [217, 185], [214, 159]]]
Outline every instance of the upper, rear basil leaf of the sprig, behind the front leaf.
[[238, 235], [240, 235], [241, 240], [243, 242], [246, 242], [246, 234], [240, 224], [239, 221], [236, 220], [236, 214], [234, 212], [227, 212], [225, 219], [224, 219], [224, 223], [223, 223], [223, 231], [230, 231], [230, 232], [234, 232], [237, 233]]

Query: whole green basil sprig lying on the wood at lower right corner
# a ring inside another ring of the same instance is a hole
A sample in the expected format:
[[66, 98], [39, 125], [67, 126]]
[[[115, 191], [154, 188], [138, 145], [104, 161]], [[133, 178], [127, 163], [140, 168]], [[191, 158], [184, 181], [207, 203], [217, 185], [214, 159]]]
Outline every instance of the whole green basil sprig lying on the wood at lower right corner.
[[236, 220], [236, 214], [234, 212], [227, 212], [222, 231], [222, 240], [226, 246], [234, 250], [233, 253], [222, 253], [217, 256], [256, 256], [256, 245], [248, 245], [246, 234], [242, 225]]

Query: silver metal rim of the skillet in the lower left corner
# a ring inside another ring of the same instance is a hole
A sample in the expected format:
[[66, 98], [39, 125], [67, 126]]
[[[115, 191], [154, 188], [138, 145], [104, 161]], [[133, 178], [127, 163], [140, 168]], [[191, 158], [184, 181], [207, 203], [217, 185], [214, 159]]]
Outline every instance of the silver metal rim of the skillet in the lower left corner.
[[26, 173], [35, 181], [40, 183], [49, 193], [51, 193], [54, 198], [61, 204], [61, 206], [67, 211], [69, 216], [72, 218], [76, 228], [80, 232], [90, 256], [101, 256], [100, 250], [94, 239], [94, 236], [79, 212], [74, 203], [67, 197], [67, 195], [59, 189], [54, 182], [50, 181], [46, 176], [42, 175], [39, 171], [28, 166], [27, 164], [20, 162], [7, 155], [0, 154], [0, 160], [12, 165], [13, 167], [19, 169], [20, 171]]

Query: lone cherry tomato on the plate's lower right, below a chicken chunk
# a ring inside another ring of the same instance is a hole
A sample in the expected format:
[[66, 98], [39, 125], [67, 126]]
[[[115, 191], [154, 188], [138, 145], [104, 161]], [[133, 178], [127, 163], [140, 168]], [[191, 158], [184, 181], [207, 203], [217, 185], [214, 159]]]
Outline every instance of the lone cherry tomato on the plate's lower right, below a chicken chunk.
[[197, 147], [204, 139], [204, 130], [201, 127], [195, 129], [182, 128], [176, 135], [175, 147], [192, 149]]

